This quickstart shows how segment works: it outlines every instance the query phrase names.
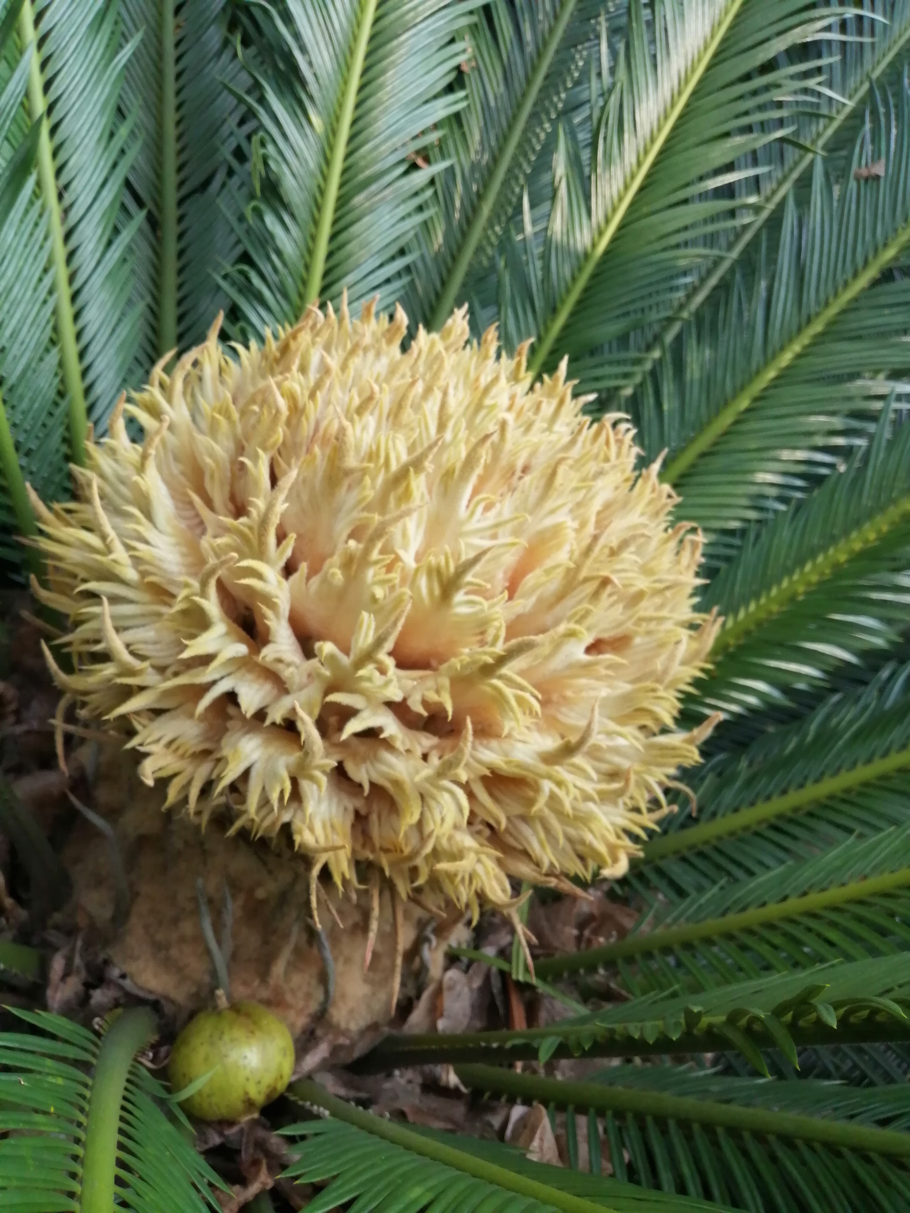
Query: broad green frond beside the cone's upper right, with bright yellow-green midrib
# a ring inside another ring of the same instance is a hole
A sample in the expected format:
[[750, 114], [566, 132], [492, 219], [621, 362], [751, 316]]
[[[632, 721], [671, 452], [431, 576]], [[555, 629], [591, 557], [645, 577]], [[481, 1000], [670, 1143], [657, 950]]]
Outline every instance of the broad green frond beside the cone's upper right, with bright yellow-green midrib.
[[[878, 160], [882, 178], [857, 177]], [[903, 372], [905, 280], [880, 279], [910, 240], [908, 171], [905, 79], [897, 96], [874, 90], [838, 189], [817, 160], [808, 211], [790, 200], [777, 255], [760, 250], [751, 283], [739, 275], [688, 326], [678, 361], [655, 369], [659, 403], [652, 393], [637, 411], [643, 440], [669, 449], [665, 477], [710, 534], [806, 491], [838, 449], [861, 440], [855, 418], [874, 415], [887, 377]]]

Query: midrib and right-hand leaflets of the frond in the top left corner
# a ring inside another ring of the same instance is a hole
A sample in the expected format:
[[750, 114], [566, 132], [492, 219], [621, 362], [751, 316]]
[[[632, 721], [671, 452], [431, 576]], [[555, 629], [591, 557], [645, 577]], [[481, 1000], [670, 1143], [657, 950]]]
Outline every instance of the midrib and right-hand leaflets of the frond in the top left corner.
[[[24, 0], [19, 13], [30, 63], [28, 106], [41, 125], [38, 167], [51, 235], [56, 340], [69, 403], [73, 455], [81, 461], [89, 422], [103, 427], [132, 360], [138, 315], [129, 307], [130, 245], [120, 223], [135, 152], [135, 115], [119, 97], [130, 46], [112, 0]], [[23, 285], [4, 307], [21, 323]]]

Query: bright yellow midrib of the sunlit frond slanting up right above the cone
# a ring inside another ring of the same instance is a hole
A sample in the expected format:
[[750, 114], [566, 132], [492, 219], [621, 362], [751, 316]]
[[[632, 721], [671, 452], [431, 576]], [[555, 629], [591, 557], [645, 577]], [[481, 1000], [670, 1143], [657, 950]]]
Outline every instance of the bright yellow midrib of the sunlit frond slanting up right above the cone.
[[599, 235], [595, 240], [592, 247], [587, 252], [587, 256], [582, 260], [581, 264], [576, 269], [573, 283], [568, 291], [563, 296], [559, 306], [557, 307], [554, 314], [551, 317], [546, 328], [539, 336], [534, 344], [534, 357], [530, 359], [528, 371], [531, 377], [536, 377], [546, 360], [550, 355], [557, 337], [562, 332], [565, 323], [568, 321], [570, 314], [573, 313], [575, 304], [581, 298], [585, 287], [587, 286], [598, 262], [607, 251], [610, 241], [619, 230], [622, 220], [632, 205], [638, 190], [644, 184], [648, 173], [654, 165], [658, 155], [660, 154], [664, 144], [669, 139], [673, 127], [676, 126], [678, 119], [681, 118], [683, 110], [689, 103], [695, 87], [704, 76], [707, 68], [717, 53], [717, 50], [723, 41], [728, 29], [733, 24], [733, 21], [743, 6], [744, 0], [728, 0], [727, 11], [717, 21], [717, 25], [709, 38], [707, 42], [701, 50], [701, 53], [694, 59], [688, 75], [682, 81], [679, 90], [673, 98], [669, 110], [666, 112], [664, 120], [660, 126], [652, 136], [649, 143], [643, 149], [638, 164], [629, 178], [625, 189], [616, 199], [613, 211], [601, 228]]

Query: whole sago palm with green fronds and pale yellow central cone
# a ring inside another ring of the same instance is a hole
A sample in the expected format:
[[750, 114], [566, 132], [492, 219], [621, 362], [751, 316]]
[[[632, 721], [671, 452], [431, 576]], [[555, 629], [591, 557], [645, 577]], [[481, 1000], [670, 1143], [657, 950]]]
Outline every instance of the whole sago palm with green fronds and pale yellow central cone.
[[[493, 907], [511, 961], [450, 961], [569, 1007], [354, 1063], [542, 1104], [567, 1168], [305, 1080], [307, 1207], [906, 1207], [909, 245], [908, 0], [0, 0], [0, 554], [59, 719], [291, 873], [296, 1027], [332, 949], [359, 997], [342, 892], [393, 1006], [421, 915]], [[195, 913], [86, 811], [112, 939]], [[598, 877], [637, 926], [530, 970], [528, 895]], [[146, 1009], [21, 1014], [4, 1208], [215, 1200]]]

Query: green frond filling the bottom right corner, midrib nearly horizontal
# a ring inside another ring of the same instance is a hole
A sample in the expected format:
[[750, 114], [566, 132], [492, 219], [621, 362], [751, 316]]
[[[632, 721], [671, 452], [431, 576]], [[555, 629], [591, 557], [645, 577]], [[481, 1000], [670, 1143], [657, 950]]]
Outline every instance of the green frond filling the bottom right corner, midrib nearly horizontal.
[[456, 1072], [478, 1093], [565, 1109], [569, 1139], [578, 1137], [578, 1114], [587, 1112], [588, 1141], [599, 1140], [603, 1124], [614, 1173], [632, 1173], [645, 1189], [760, 1213], [814, 1209], [821, 1192], [825, 1208], [838, 1213], [897, 1211], [910, 1198], [910, 1135], [875, 1124], [908, 1120], [905, 1089], [882, 1098], [826, 1083], [718, 1078], [664, 1066], [615, 1066], [597, 1082], [485, 1065]]

